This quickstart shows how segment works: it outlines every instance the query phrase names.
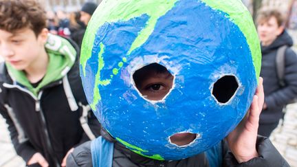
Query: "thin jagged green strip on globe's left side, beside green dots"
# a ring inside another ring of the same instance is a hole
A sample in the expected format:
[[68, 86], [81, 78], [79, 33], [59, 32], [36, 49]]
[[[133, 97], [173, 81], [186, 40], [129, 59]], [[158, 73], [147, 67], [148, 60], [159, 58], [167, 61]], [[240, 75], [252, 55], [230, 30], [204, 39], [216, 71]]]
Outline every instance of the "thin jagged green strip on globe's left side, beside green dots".
[[111, 82], [111, 80], [101, 80], [100, 78], [100, 71], [101, 69], [104, 67], [104, 60], [102, 57], [102, 54], [104, 53], [104, 45], [103, 43], [100, 43], [100, 52], [98, 54], [98, 71], [97, 74], [95, 76], [95, 84], [94, 84], [94, 97], [93, 97], [93, 102], [90, 104], [91, 109], [93, 109], [93, 111], [96, 110], [96, 104], [99, 102], [99, 100], [101, 100], [101, 96], [99, 93], [99, 85], [109, 85], [109, 83]]

